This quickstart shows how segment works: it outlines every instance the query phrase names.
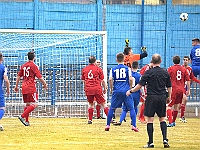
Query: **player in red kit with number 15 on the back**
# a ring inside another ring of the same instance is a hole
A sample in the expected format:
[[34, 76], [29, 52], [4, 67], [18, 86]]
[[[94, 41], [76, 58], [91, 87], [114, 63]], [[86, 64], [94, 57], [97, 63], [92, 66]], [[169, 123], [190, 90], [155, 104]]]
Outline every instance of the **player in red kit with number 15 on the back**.
[[43, 79], [38, 66], [34, 63], [35, 53], [33, 51], [28, 52], [28, 62], [23, 64], [17, 75], [15, 92], [19, 91], [19, 81], [23, 78], [22, 82], [22, 96], [23, 101], [26, 103], [24, 112], [18, 117], [18, 119], [25, 125], [30, 126], [29, 114], [38, 106], [38, 94], [36, 92], [36, 77], [42, 82], [43, 88], [47, 89], [47, 84]]

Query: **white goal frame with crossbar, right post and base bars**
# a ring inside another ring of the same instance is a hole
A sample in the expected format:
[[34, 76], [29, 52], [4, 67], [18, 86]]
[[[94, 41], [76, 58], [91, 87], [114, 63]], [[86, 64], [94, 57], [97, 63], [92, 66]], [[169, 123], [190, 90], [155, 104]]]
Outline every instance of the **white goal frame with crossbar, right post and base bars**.
[[[102, 38], [103, 38], [103, 42], [102, 42], [102, 49], [103, 49], [103, 57], [102, 57], [102, 62], [103, 62], [103, 73], [104, 73], [104, 80], [105, 82], [107, 83], [107, 31], [73, 31], [73, 30], [26, 30], [26, 29], [0, 29], [0, 34], [84, 34], [84, 35], [102, 35]], [[1, 41], [1, 39], [0, 39]], [[23, 49], [22, 49], [23, 50]], [[1, 50], [1, 47], [0, 47], [0, 52], [4, 53], [4, 50], [2, 51]], [[13, 89], [11, 89], [13, 90]], [[105, 94], [105, 99], [107, 100], [107, 95]], [[58, 102], [59, 104], [59, 102]], [[70, 106], [74, 106], [74, 105], [85, 105], [87, 108], [87, 100], [85, 100], [85, 102], [65, 102], [66, 105], [70, 105]], [[10, 104], [7, 104], [7, 105], [16, 105], [16, 106], [21, 106], [22, 104], [14, 104], [14, 103], [10, 103]], [[45, 105], [50, 105], [50, 103], [39, 103], [39, 106], [45, 106]], [[57, 104], [56, 104], [57, 105]], [[54, 114], [51, 115], [51, 116], [47, 116], [47, 117], [60, 117], [58, 115], [58, 108], [57, 106], [54, 106], [53, 109], [54, 109]], [[19, 110], [17, 113], [16, 113], [16, 116], [18, 116], [21, 112], [21, 110]], [[87, 110], [86, 110], [87, 112]], [[9, 110], [6, 111], [6, 113], [9, 113]], [[87, 117], [87, 114], [85, 114]], [[5, 114], [6, 116], [6, 114]], [[13, 117], [15, 115], [7, 115], [8, 117]], [[38, 113], [38, 115], [32, 115], [32, 116], [35, 116], [35, 117], [44, 117], [44, 116], [40, 116], [40, 114]], [[83, 117], [83, 116], [79, 116], [79, 115], [75, 115], [75, 116], [61, 116], [61, 117]]]

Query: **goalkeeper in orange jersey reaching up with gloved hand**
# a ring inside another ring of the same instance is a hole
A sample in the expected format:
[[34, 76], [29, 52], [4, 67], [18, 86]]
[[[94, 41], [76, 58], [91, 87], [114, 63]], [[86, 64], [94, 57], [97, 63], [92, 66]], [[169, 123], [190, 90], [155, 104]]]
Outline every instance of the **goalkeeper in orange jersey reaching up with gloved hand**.
[[145, 57], [147, 57], [147, 51], [146, 48], [143, 50], [142, 54], [133, 54], [133, 50], [131, 47], [125, 47], [124, 48], [124, 65], [129, 66], [131, 68], [131, 64], [134, 61], [141, 60]]

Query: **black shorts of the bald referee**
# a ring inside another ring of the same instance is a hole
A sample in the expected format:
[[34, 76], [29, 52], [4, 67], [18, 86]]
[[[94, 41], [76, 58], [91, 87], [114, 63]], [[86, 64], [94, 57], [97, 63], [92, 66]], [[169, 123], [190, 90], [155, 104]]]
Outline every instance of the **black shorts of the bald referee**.
[[147, 95], [145, 101], [144, 115], [154, 117], [155, 113], [158, 117], [166, 116], [166, 95]]

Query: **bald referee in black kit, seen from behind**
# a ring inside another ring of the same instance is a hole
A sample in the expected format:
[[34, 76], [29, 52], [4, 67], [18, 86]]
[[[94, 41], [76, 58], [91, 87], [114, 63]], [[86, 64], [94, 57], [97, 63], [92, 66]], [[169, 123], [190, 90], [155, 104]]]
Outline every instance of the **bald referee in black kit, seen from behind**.
[[167, 126], [165, 122], [166, 116], [166, 88], [169, 93], [169, 99], [171, 99], [171, 80], [168, 72], [165, 69], [160, 68], [161, 56], [154, 54], [152, 56], [153, 68], [147, 70], [142, 76], [139, 83], [127, 91], [126, 95], [139, 90], [142, 86], [147, 85], [147, 97], [145, 101], [144, 115], [147, 117], [147, 133], [149, 141], [144, 148], [153, 148], [153, 121], [155, 113], [159, 117], [160, 129], [163, 135], [164, 148], [168, 148], [167, 139]]

